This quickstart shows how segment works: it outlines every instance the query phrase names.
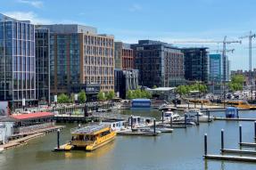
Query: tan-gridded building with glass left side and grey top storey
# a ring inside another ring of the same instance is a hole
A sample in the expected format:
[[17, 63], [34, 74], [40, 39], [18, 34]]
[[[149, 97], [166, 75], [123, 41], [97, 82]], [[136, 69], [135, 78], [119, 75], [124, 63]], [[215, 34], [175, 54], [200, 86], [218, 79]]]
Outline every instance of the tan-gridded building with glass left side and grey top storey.
[[[51, 94], [72, 89], [114, 90], [114, 37], [77, 24], [44, 25], [50, 29]], [[90, 88], [87, 88], [89, 86]], [[90, 96], [89, 96], [90, 97]]]

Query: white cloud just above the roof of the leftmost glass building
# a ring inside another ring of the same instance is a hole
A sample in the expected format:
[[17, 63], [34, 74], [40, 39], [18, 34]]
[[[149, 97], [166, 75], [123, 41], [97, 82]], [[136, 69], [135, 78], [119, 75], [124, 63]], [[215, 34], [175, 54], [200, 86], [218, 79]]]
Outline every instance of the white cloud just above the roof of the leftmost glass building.
[[30, 20], [33, 24], [52, 24], [52, 20], [42, 19], [35, 12], [3, 12], [4, 15], [17, 20]]

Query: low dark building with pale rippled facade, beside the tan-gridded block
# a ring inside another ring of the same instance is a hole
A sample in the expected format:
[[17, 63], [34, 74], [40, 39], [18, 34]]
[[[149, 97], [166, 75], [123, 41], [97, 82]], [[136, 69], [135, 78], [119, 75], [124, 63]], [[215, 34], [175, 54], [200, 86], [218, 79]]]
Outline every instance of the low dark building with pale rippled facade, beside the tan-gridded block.
[[128, 90], [136, 90], [138, 87], [138, 70], [137, 69], [115, 69], [115, 93], [119, 97], [126, 98]]

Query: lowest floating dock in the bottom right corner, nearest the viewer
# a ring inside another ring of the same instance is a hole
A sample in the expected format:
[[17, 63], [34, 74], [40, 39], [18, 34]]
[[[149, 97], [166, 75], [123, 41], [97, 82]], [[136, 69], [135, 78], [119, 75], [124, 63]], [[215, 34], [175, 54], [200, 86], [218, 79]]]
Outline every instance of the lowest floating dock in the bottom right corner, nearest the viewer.
[[204, 155], [203, 157], [208, 159], [216, 159], [216, 160], [256, 162], [256, 158], [253, 158], [253, 157], [236, 157], [236, 156], [223, 156], [223, 155]]

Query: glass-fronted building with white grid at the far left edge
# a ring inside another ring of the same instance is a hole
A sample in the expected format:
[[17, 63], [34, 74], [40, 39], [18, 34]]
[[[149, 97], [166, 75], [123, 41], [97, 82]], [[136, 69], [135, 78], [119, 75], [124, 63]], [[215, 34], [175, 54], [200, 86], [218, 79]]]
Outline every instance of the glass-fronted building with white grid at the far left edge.
[[35, 27], [0, 14], [0, 101], [12, 108], [36, 98]]

